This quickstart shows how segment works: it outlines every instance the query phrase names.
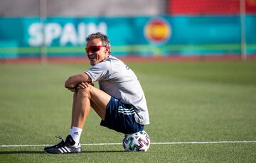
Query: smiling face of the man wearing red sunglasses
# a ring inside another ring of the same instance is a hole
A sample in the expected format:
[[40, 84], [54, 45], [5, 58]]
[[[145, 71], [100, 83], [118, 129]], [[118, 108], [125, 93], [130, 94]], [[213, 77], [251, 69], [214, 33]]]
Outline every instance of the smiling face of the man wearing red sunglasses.
[[102, 46], [102, 40], [100, 38], [90, 40], [86, 48], [87, 57], [91, 65], [102, 62], [102, 60], [105, 60], [109, 56], [109, 50], [107, 47]]

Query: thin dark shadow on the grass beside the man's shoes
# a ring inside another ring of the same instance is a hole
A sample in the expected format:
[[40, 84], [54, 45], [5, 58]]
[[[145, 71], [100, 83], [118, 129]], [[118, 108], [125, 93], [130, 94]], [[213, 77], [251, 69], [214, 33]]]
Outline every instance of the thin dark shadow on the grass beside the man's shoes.
[[[82, 151], [82, 153], [110, 153], [110, 152], [125, 152], [123, 150], [100, 150], [100, 151]], [[32, 150], [16, 150], [16, 151], [0, 151], [0, 154], [48, 154], [44, 151], [32, 151]]]

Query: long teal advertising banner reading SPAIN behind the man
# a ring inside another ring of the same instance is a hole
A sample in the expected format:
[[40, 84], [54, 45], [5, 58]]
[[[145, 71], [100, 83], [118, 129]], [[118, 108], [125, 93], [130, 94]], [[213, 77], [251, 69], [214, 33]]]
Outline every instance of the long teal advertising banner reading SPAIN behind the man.
[[[256, 16], [245, 17], [246, 52], [256, 53]], [[109, 36], [112, 54], [240, 55], [239, 16], [0, 18], [0, 58], [85, 55], [90, 33]]]

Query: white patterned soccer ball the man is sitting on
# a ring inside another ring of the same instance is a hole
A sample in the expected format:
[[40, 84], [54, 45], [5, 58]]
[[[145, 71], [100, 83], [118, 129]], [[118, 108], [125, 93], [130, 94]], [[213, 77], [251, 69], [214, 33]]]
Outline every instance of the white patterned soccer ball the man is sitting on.
[[146, 131], [124, 135], [122, 141], [124, 150], [127, 152], [149, 150], [150, 138]]

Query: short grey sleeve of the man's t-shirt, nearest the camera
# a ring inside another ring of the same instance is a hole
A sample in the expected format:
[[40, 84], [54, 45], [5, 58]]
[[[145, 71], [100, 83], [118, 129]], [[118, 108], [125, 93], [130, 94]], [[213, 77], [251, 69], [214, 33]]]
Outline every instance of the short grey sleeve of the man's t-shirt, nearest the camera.
[[92, 82], [108, 79], [110, 77], [110, 62], [100, 62], [95, 64], [85, 73], [92, 79]]

